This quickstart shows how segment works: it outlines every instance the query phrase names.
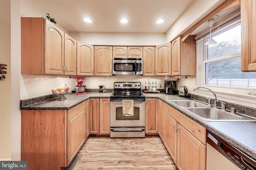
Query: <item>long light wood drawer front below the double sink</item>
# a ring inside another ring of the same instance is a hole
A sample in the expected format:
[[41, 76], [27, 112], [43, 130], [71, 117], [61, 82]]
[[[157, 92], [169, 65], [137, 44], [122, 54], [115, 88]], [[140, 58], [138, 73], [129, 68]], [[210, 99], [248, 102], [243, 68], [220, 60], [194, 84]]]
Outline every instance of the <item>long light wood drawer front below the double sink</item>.
[[164, 111], [172, 116], [177, 122], [179, 122], [184, 128], [192, 133], [197, 139], [199, 139], [204, 145], [206, 145], [206, 129], [186, 117], [176, 109], [172, 108], [168, 104], [164, 104]]

